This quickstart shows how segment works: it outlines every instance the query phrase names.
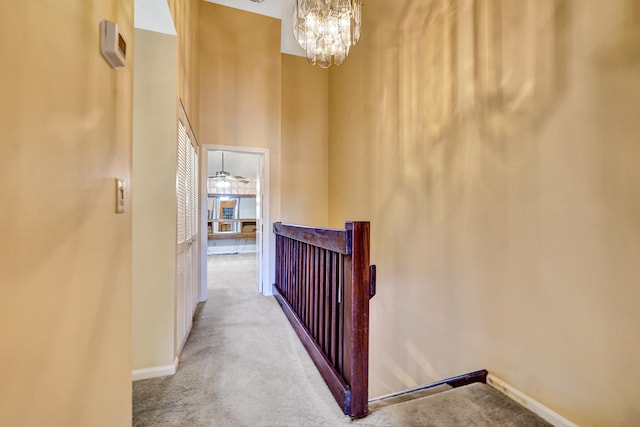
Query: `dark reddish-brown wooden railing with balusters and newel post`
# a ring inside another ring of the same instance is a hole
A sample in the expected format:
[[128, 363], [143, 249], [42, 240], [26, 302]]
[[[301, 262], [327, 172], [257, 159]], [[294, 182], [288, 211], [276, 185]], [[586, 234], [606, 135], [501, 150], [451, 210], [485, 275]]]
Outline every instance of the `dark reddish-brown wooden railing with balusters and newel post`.
[[368, 412], [369, 223], [274, 224], [276, 299], [346, 415]]

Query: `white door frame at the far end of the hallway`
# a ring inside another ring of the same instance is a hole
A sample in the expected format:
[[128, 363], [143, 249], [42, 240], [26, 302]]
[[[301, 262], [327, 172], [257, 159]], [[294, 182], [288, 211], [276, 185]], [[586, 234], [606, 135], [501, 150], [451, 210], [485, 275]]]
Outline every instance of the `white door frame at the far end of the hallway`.
[[[258, 291], [263, 295], [273, 295], [270, 285], [271, 266], [269, 264], [271, 233], [269, 232], [270, 222], [270, 191], [269, 191], [269, 149], [256, 147], [238, 147], [235, 145], [201, 144], [200, 145], [200, 301], [204, 302], [208, 298], [208, 276], [207, 276], [207, 246], [209, 236], [207, 233], [207, 175], [209, 170], [209, 151], [229, 151], [233, 153], [258, 154], [262, 157], [264, 164], [264, 176], [258, 177], [262, 180], [259, 188], [262, 189], [261, 210], [262, 218], [256, 218], [258, 232], [262, 234], [262, 245], [258, 245], [256, 238], [257, 257], [260, 260], [258, 270], [261, 271]], [[256, 195], [258, 197], [258, 195]], [[265, 226], [266, 225], [266, 226]]]

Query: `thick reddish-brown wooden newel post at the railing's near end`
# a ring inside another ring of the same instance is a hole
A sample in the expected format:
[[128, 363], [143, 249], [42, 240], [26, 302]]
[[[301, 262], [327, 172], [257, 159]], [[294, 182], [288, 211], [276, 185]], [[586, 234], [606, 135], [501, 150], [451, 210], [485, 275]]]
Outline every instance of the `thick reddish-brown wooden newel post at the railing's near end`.
[[351, 386], [349, 413], [362, 418], [368, 413], [369, 400], [369, 222], [347, 222], [345, 259], [345, 354], [344, 371]]

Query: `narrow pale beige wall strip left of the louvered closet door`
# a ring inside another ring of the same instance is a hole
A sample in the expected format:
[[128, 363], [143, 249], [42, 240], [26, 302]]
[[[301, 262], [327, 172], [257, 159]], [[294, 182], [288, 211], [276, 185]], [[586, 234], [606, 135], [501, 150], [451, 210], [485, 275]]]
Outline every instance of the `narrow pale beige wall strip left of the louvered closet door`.
[[174, 363], [176, 36], [135, 30], [133, 369]]

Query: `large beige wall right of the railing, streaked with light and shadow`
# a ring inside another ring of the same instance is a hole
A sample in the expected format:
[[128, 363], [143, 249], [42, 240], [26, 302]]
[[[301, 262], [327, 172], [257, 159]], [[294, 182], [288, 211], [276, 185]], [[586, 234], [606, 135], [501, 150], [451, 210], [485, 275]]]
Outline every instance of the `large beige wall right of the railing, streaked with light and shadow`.
[[332, 69], [330, 222], [372, 222], [372, 396], [487, 368], [637, 425], [639, 9], [367, 2]]

